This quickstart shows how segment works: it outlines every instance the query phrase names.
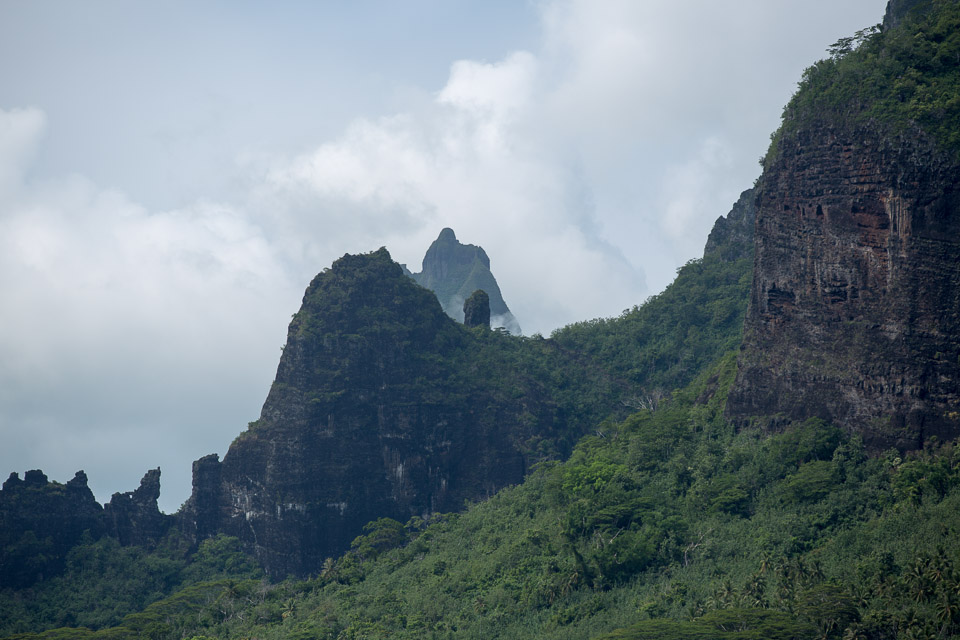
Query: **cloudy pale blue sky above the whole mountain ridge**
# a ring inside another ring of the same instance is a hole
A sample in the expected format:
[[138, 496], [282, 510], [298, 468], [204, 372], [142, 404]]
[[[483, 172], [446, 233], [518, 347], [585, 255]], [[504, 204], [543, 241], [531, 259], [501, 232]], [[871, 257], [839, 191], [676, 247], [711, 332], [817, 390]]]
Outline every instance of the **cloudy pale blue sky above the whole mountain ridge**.
[[884, 6], [0, 0], [0, 473], [172, 513], [344, 253], [452, 227], [528, 335], [641, 304]]

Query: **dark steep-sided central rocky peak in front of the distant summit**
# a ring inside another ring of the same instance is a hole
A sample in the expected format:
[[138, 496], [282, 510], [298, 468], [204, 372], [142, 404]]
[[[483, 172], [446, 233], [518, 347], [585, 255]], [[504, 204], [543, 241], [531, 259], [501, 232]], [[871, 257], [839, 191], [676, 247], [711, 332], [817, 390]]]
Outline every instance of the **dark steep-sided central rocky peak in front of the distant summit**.
[[530, 443], [592, 424], [571, 426], [543, 381], [501, 364], [498, 349], [528, 342], [457, 324], [385, 249], [344, 256], [307, 289], [260, 419], [222, 462], [194, 464], [184, 530], [237, 536], [272, 575], [302, 575], [370, 520], [519, 482]]

